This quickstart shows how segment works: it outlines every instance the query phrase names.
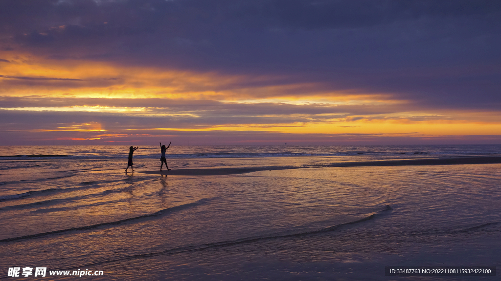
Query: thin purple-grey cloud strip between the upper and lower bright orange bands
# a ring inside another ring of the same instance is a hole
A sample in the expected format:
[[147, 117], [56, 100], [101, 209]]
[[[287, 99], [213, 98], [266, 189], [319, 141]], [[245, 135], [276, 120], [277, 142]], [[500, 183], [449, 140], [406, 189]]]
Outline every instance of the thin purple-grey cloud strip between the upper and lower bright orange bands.
[[[76, 97], [41, 97], [41, 96], [0, 96], [3, 108], [18, 107], [70, 107], [70, 106], [116, 106], [116, 107], [146, 107], [147, 114], [164, 113], [196, 113], [204, 118], [218, 116], [233, 118], [235, 116], [261, 115], [291, 115], [304, 114], [322, 115], [329, 118], [345, 116], [346, 114], [388, 114], [400, 112], [401, 105], [332, 105], [322, 103], [288, 104], [283, 102], [236, 103], [217, 100], [176, 100], [167, 98], [76, 98]], [[407, 109], [407, 108], [406, 108]], [[141, 113], [135, 113], [141, 114]], [[339, 115], [341, 114], [341, 115]], [[225, 121], [227, 122], [227, 120]], [[245, 122], [247, 123], [247, 122]]]

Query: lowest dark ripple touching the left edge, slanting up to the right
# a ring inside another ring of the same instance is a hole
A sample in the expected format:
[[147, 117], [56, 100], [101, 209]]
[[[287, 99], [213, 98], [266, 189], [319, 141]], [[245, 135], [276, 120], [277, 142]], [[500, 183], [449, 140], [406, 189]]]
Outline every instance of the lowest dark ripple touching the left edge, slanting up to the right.
[[212, 198], [202, 198], [202, 199], [190, 202], [190, 203], [186, 203], [186, 204], [182, 204], [182, 205], [177, 205], [177, 206], [173, 206], [173, 207], [168, 207], [168, 208], [165, 208], [165, 209], [161, 209], [161, 210], [156, 211], [154, 213], [143, 214], [143, 215], [139, 215], [139, 216], [135, 216], [135, 217], [129, 217], [129, 218], [124, 218], [124, 219], [115, 220], [115, 221], [102, 222], [102, 223], [93, 224], [93, 225], [86, 225], [86, 226], [80, 226], [80, 227], [60, 229], [60, 230], [54, 230], [54, 231], [48, 231], [48, 232], [30, 234], [30, 235], [19, 236], [19, 237], [5, 238], [5, 239], [0, 240], [0, 242], [10, 242], [10, 241], [23, 240], [23, 239], [39, 238], [39, 237], [43, 237], [43, 236], [51, 235], [51, 234], [60, 234], [60, 233], [64, 233], [64, 232], [77, 231], [77, 230], [88, 230], [88, 229], [93, 229], [93, 228], [97, 228], [97, 227], [100, 227], [100, 226], [120, 225], [120, 224], [123, 224], [124, 222], [129, 222], [129, 221], [133, 221], [133, 220], [139, 220], [141, 218], [151, 218], [151, 217], [155, 217], [155, 216], [161, 216], [162, 214], [165, 214], [165, 212], [172, 212], [172, 211], [177, 211], [177, 210], [186, 209], [186, 208], [189, 208], [189, 207], [201, 205], [201, 204], [207, 203], [210, 199], [212, 199]]

